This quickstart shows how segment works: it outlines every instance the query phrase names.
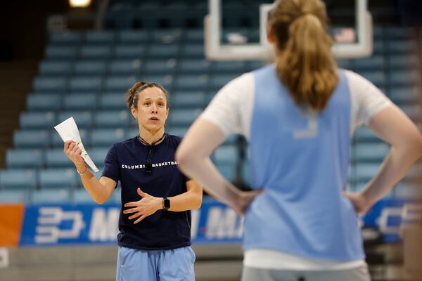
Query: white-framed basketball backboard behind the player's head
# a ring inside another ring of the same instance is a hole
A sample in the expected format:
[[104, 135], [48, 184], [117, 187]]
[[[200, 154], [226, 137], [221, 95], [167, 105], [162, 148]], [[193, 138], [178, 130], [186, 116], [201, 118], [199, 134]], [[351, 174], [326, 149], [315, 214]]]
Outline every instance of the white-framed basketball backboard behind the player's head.
[[[209, 0], [205, 17], [205, 55], [210, 60], [266, 60], [267, 16], [273, 1]], [[281, 0], [283, 1], [283, 0]], [[245, 2], [245, 1], [244, 1]], [[367, 0], [326, 0], [337, 58], [362, 58], [372, 53], [372, 20]], [[344, 2], [344, 3], [343, 3]], [[251, 4], [252, 3], [252, 4]]]

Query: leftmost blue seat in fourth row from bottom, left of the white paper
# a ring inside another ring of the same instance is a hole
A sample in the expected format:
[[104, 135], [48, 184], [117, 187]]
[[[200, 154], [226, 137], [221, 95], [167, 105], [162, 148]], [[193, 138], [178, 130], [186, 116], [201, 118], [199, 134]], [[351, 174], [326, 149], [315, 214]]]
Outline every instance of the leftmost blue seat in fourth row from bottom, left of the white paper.
[[48, 130], [17, 130], [13, 133], [15, 148], [46, 148], [50, 145]]

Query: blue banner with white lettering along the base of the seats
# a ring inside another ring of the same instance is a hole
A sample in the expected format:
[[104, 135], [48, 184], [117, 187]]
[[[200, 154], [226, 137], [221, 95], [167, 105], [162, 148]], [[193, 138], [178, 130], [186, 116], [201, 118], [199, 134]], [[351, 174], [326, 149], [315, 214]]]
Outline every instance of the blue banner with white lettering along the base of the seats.
[[[402, 223], [421, 218], [421, 205], [401, 200], [382, 200], [361, 225], [378, 229], [386, 242], [400, 240]], [[116, 244], [120, 204], [32, 205], [25, 208], [20, 246], [66, 244]], [[232, 209], [205, 198], [192, 211], [192, 242], [197, 244], [240, 243], [243, 218]]]

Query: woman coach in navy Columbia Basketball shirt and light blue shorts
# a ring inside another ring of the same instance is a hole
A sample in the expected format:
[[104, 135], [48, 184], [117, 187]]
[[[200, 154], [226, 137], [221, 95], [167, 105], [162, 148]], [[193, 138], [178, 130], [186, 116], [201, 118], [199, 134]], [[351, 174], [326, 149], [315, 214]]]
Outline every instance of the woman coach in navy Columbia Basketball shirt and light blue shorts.
[[165, 133], [167, 100], [159, 84], [132, 86], [127, 105], [139, 135], [110, 148], [99, 180], [76, 143], [65, 142], [64, 152], [95, 202], [106, 202], [121, 183], [116, 280], [195, 280], [190, 210], [200, 207], [202, 188], [181, 174], [174, 160], [181, 138]]

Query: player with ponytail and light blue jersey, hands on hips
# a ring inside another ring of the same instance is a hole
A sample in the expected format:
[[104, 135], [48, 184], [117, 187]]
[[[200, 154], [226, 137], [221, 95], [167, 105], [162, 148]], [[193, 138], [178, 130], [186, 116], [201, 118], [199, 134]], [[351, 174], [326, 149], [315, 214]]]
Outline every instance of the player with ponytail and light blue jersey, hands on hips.
[[[186, 175], [245, 214], [243, 280], [370, 280], [357, 214], [422, 155], [411, 120], [370, 81], [337, 67], [326, 31], [322, 1], [277, 1], [267, 34], [275, 63], [224, 86], [177, 151]], [[364, 190], [345, 193], [362, 124], [391, 150]], [[237, 132], [250, 143], [252, 192], [208, 159]]]

